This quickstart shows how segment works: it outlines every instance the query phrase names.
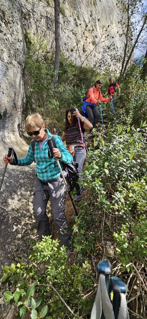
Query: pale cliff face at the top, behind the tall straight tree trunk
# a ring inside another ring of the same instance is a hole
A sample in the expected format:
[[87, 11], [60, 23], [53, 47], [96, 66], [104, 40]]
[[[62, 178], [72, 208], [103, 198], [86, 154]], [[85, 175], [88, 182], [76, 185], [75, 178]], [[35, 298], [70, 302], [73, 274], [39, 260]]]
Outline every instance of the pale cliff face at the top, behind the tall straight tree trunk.
[[[21, 0], [21, 8], [23, 28], [33, 37], [37, 33], [38, 36], [41, 34], [46, 37], [49, 48], [53, 50], [54, 2]], [[91, 66], [96, 65], [98, 68], [97, 62], [107, 45], [110, 46], [114, 41], [116, 45], [122, 46], [117, 33], [121, 12], [115, 1], [63, 0], [60, 2], [60, 12], [61, 50], [77, 64], [82, 62]], [[104, 32], [108, 25], [110, 32]], [[107, 34], [108, 40], [105, 39]], [[113, 36], [114, 40], [110, 39], [110, 36]], [[107, 58], [110, 60], [109, 54]]]

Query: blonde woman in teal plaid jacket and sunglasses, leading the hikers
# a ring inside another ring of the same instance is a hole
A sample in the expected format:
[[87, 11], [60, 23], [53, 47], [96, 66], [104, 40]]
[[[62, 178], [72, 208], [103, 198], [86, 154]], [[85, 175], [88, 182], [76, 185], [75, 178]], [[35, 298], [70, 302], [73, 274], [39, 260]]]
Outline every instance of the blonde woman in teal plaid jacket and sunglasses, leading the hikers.
[[[65, 217], [66, 187], [60, 177], [60, 170], [54, 158], [48, 156], [48, 139], [51, 133], [45, 129], [42, 117], [38, 114], [26, 118], [25, 128], [27, 134], [35, 140], [35, 149], [30, 144], [25, 158], [18, 159], [19, 166], [27, 166], [36, 161], [37, 181], [34, 189], [33, 211], [37, 220], [37, 232], [40, 240], [43, 236], [50, 235], [49, 218], [46, 206], [50, 199], [53, 219], [58, 231], [59, 239], [64, 246], [70, 241], [70, 232]], [[71, 164], [73, 157], [64, 146], [62, 139], [55, 136], [56, 148], [53, 148], [54, 157], [66, 164]], [[3, 158], [5, 164], [16, 165], [15, 160], [7, 155]], [[63, 168], [63, 167], [62, 167]]]

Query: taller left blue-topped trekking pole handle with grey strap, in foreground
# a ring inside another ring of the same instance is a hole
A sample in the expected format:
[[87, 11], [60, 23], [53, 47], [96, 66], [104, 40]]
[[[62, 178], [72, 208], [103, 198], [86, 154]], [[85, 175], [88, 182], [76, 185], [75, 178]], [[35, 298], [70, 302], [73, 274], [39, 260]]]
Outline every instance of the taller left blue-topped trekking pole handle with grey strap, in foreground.
[[102, 260], [97, 264], [96, 271], [99, 274], [99, 280], [90, 319], [115, 319], [108, 294], [109, 276], [111, 274], [110, 262]]

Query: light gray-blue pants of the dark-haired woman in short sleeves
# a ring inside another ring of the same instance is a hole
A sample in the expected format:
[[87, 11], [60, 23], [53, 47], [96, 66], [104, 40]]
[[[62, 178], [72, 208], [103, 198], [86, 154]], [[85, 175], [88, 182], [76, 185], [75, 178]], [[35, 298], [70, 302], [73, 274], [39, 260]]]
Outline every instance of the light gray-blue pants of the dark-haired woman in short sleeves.
[[[83, 164], [85, 160], [85, 154], [84, 154], [84, 149], [83, 147], [74, 147], [75, 155], [73, 157], [73, 160], [78, 163], [78, 173], [79, 173], [79, 178], [82, 181], [82, 169], [83, 169]], [[82, 189], [82, 185], [80, 185], [80, 189]]]

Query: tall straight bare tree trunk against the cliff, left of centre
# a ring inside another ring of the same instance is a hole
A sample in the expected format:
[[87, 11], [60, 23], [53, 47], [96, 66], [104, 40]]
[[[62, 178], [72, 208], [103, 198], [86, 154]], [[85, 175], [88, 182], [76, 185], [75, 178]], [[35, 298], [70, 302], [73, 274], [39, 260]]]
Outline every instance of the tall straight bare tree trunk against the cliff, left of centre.
[[58, 83], [58, 72], [60, 66], [60, 0], [54, 0], [55, 11], [55, 62], [54, 62], [54, 89]]

